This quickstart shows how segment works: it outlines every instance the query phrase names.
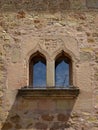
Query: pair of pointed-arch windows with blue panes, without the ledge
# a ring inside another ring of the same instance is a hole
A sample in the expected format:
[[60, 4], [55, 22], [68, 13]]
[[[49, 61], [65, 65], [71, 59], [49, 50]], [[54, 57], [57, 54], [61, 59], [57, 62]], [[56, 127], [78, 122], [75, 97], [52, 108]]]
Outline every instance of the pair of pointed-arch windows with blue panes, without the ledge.
[[[46, 57], [40, 52], [36, 52], [30, 57], [29, 61], [29, 85], [33, 88], [45, 88], [47, 86], [47, 73], [51, 73], [48, 70]], [[71, 58], [65, 53], [61, 52], [54, 59], [53, 66], [50, 66], [54, 72], [53, 86], [60, 87], [69, 87], [72, 79], [72, 61]], [[48, 83], [49, 85], [49, 83]], [[51, 87], [51, 86], [50, 86]]]

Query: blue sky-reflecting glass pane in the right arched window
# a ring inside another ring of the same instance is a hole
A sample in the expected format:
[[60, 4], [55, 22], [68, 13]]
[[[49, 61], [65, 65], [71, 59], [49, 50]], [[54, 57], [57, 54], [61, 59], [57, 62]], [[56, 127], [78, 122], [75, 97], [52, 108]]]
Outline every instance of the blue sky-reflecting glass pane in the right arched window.
[[68, 87], [69, 85], [69, 64], [64, 60], [56, 66], [55, 84], [57, 87]]

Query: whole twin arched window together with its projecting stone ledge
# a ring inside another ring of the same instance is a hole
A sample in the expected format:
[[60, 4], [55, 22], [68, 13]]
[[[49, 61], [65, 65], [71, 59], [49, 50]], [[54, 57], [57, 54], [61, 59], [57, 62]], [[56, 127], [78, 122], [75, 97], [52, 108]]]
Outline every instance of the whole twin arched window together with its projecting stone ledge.
[[74, 99], [79, 88], [73, 86], [72, 70], [72, 58], [65, 52], [59, 53], [54, 60], [36, 52], [29, 59], [29, 86], [20, 89], [19, 94], [36, 99]]

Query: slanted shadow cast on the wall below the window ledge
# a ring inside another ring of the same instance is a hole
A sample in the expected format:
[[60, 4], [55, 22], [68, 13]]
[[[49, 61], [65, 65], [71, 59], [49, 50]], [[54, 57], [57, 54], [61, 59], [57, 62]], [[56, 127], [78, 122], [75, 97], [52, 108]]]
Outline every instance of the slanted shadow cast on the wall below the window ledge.
[[68, 120], [74, 104], [74, 99], [27, 99], [18, 94], [1, 130], [70, 128]]

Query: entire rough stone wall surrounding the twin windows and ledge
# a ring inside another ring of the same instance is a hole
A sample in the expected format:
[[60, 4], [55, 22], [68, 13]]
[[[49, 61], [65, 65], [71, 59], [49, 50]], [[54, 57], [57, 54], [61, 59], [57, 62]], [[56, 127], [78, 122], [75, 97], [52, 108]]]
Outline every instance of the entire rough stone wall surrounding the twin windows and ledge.
[[[29, 85], [30, 56], [46, 56], [51, 86], [62, 50], [79, 96], [18, 96]], [[97, 0], [0, 0], [0, 130], [98, 130]]]

